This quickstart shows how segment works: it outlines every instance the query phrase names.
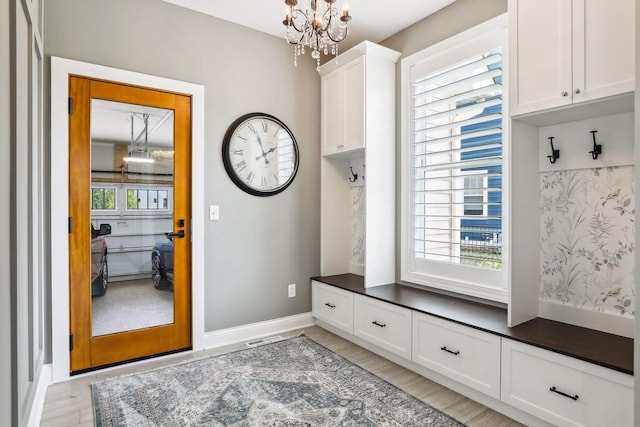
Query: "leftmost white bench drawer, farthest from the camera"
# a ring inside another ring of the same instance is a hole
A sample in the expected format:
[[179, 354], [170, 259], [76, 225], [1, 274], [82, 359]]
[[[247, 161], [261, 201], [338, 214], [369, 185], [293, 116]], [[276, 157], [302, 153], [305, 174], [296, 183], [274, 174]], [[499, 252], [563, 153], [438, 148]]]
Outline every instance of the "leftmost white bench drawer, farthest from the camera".
[[353, 334], [353, 292], [316, 281], [311, 286], [313, 316]]

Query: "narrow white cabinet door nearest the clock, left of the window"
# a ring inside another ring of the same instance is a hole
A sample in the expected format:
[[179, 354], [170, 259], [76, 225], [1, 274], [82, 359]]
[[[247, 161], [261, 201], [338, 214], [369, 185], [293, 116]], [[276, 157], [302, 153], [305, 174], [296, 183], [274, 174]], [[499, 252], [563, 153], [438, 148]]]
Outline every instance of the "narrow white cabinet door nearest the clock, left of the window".
[[345, 124], [345, 73], [344, 69], [322, 78], [322, 155], [340, 151], [344, 147]]

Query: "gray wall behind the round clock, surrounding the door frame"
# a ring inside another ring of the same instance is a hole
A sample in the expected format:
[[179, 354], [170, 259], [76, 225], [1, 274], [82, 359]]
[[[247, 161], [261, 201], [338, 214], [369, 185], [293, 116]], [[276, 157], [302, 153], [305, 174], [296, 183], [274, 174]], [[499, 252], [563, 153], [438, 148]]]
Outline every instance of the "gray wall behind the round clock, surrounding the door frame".
[[[48, 0], [45, 9], [47, 57], [205, 87], [205, 216], [220, 206], [220, 221], [205, 224], [205, 331], [309, 312], [309, 277], [320, 270], [320, 78], [310, 58], [295, 68], [281, 38], [158, 0]], [[225, 130], [255, 111], [283, 120], [300, 148], [295, 181], [273, 197], [242, 192], [222, 164]]]

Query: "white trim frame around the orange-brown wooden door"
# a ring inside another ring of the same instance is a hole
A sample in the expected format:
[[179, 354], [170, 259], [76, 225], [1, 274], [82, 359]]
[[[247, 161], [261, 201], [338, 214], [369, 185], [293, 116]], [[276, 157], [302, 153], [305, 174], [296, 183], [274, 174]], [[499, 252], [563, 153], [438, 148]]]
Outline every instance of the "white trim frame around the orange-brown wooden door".
[[121, 82], [192, 98], [192, 351], [204, 349], [204, 87], [163, 77], [51, 57], [51, 346], [52, 381], [68, 380], [69, 356], [69, 76]]

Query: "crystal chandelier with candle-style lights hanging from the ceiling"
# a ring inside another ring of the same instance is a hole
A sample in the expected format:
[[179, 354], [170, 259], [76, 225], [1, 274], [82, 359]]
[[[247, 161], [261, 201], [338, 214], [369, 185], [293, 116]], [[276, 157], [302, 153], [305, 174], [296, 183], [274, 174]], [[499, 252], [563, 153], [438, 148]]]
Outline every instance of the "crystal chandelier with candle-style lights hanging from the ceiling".
[[285, 39], [294, 45], [293, 64], [298, 65], [298, 56], [304, 55], [305, 48], [311, 50], [311, 57], [316, 60], [316, 70], [320, 70], [320, 52], [338, 56], [338, 43], [347, 38], [347, 23], [351, 20], [349, 7], [345, 3], [342, 16], [334, 3], [337, 0], [324, 0], [324, 11], [318, 7], [320, 0], [285, 0], [287, 5], [282, 23], [287, 27]]

